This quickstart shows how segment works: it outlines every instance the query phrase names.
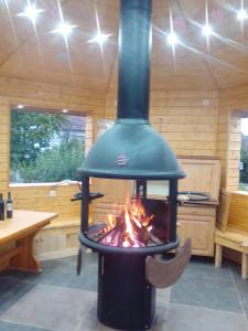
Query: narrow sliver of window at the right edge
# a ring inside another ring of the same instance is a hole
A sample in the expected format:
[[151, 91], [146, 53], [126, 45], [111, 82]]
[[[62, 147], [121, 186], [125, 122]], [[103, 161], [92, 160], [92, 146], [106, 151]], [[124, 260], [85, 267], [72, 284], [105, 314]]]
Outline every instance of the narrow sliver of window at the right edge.
[[241, 118], [239, 190], [248, 191], [248, 118]]

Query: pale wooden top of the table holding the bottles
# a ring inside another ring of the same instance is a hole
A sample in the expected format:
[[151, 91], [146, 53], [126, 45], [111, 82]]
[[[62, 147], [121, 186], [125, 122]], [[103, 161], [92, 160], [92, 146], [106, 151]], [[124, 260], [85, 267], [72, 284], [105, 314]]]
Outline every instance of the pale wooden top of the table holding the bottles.
[[48, 224], [56, 216], [56, 213], [14, 210], [13, 218], [0, 221], [0, 244], [15, 241], [29, 233], [35, 232]]

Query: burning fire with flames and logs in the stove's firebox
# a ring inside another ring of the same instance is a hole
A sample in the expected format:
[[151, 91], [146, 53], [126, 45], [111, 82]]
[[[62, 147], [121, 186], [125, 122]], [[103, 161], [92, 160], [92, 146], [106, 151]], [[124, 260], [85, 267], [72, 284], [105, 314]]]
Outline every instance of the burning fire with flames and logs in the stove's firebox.
[[148, 216], [140, 200], [131, 200], [119, 216], [108, 215], [98, 242], [122, 247], [145, 247], [152, 243], [152, 220]]

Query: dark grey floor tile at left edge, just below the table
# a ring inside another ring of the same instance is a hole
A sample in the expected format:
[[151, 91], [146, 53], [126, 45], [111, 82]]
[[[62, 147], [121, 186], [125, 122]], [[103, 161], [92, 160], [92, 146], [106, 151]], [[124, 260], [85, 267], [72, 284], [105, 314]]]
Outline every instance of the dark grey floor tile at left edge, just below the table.
[[33, 284], [0, 279], [0, 313], [21, 300], [34, 287]]

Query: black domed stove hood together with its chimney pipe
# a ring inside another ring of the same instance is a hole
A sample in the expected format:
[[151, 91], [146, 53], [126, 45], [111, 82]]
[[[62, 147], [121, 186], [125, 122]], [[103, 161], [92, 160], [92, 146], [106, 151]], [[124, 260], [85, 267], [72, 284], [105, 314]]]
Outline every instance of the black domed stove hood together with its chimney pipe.
[[79, 172], [116, 179], [180, 179], [176, 158], [149, 124], [151, 0], [121, 0], [118, 118], [93, 146]]

